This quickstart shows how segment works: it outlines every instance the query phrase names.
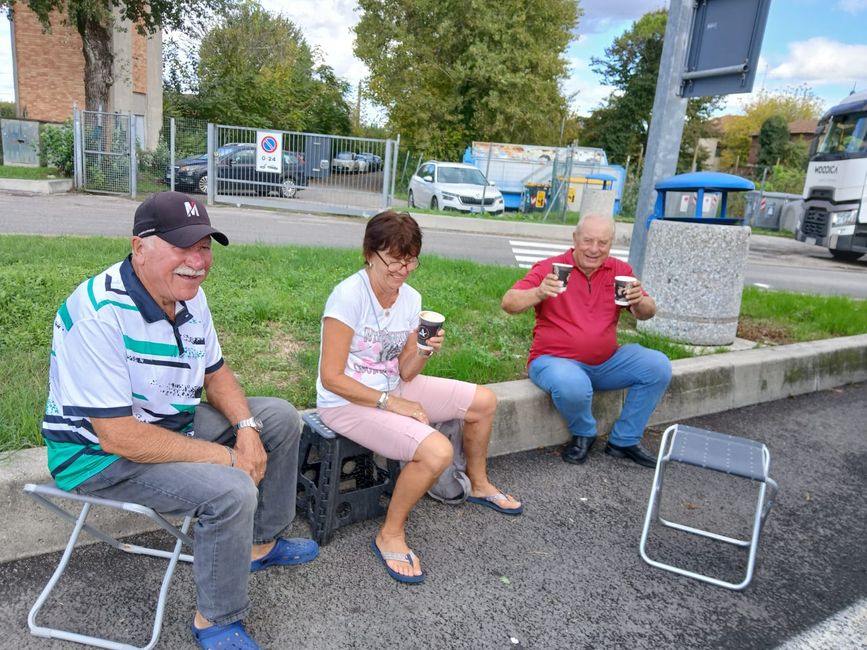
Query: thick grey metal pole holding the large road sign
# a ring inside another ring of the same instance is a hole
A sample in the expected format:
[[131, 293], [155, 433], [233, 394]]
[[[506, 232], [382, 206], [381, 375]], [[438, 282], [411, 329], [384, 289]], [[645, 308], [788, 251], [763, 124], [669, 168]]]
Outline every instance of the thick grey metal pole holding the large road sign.
[[686, 61], [692, 16], [692, 0], [671, 1], [665, 26], [665, 40], [662, 44], [662, 59], [659, 62], [656, 95], [653, 98], [653, 117], [647, 134], [646, 161], [641, 174], [638, 207], [629, 246], [629, 263], [639, 277], [644, 269], [647, 217], [650, 216], [656, 200], [654, 187], [658, 181], [671, 176], [677, 170], [677, 155], [680, 151], [687, 102], [677, 93]]

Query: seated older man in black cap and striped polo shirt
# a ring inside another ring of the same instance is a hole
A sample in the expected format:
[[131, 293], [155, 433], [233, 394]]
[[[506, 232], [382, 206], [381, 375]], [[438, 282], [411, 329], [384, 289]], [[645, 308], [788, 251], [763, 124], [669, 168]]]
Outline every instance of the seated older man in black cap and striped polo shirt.
[[295, 514], [301, 421], [284, 400], [248, 401], [223, 360], [200, 288], [212, 240], [229, 243], [185, 194], [139, 206], [132, 253], [57, 312], [42, 434], [58, 487], [194, 515], [193, 635], [257, 648], [241, 622], [249, 573], [319, 548], [279, 537]]

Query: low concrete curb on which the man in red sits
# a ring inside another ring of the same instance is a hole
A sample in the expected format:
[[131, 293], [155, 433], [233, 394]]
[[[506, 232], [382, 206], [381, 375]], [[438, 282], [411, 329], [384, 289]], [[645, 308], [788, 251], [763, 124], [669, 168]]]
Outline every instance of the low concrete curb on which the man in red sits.
[[[681, 359], [672, 366], [671, 386], [651, 424], [867, 381], [867, 334]], [[548, 396], [529, 380], [490, 387], [499, 398], [491, 456], [568, 440]], [[623, 397], [624, 391], [594, 397], [600, 432], [611, 428]], [[66, 544], [69, 526], [22, 492], [25, 483], [50, 481], [44, 448], [16, 452], [0, 462], [0, 562], [60, 550]], [[117, 535], [152, 528], [142, 517], [105, 510], [94, 510], [92, 520]]]

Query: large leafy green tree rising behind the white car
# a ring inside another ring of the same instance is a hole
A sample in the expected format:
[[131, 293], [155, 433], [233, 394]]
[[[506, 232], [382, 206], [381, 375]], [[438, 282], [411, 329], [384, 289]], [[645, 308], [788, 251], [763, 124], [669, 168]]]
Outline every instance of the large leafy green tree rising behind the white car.
[[574, 0], [359, 0], [355, 54], [389, 126], [429, 156], [473, 139], [556, 144]]

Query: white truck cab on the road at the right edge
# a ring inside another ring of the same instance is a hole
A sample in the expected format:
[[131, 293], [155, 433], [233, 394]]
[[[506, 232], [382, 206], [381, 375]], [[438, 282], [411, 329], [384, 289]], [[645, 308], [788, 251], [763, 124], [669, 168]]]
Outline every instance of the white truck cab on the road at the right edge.
[[828, 110], [816, 128], [795, 239], [837, 259], [867, 253], [867, 91]]

